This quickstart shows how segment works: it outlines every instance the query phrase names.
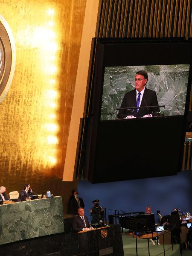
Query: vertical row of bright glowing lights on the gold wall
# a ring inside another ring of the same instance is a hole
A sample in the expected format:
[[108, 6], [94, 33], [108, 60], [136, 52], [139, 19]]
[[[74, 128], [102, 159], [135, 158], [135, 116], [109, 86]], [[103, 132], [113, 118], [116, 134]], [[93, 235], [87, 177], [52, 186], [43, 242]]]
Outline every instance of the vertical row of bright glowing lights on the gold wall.
[[42, 126], [44, 130], [46, 130], [47, 134], [47, 143], [50, 145], [47, 148], [47, 162], [51, 165], [54, 165], [57, 162], [55, 157], [56, 155], [56, 145], [58, 144], [58, 137], [56, 136], [58, 132], [58, 125], [56, 123], [56, 110], [57, 110], [57, 99], [58, 93], [55, 89], [56, 84], [56, 74], [57, 74], [57, 67], [55, 65], [56, 54], [58, 51], [58, 45], [56, 42], [56, 35], [54, 31], [54, 9], [48, 9], [47, 15], [49, 17], [47, 22], [47, 28], [45, 32], [47, 33], [47, 42], [45, 45], [45, 52], [46, 52], [46, 65], [44, 67], [45, 72], [47, 73], [47, 78], [49, 79], [47, 88], [45, 91], [45, 98], [47, 99], [47, 107], [48, 107], [48, 115], [47, 115], [47, 122], [45, 122]]

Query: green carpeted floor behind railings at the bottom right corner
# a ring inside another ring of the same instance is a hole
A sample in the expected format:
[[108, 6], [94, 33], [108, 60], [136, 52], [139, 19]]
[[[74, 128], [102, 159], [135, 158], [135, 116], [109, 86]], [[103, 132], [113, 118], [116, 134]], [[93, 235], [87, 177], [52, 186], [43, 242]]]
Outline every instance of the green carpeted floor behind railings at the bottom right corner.
[[[136, 256], [135, 239], [131, 236], [122, 234], [124, 256]], [[138, 256], [148, 256], [148, 242], [147, 239], [137, 239]], [[149, 240], [150, 256], [163, 256], [163, 245], [153, 245]], [[179, 245], [165, 244], [166, 256], [180, 256]], [[183, 250], [182, 256], [192, 256], [191, 248]]]

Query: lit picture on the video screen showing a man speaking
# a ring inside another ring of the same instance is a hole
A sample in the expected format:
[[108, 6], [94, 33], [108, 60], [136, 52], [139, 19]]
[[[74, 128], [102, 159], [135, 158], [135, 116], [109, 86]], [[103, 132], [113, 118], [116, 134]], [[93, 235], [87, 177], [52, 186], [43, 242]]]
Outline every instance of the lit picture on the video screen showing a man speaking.
[[[183, 115], [188, 77], [189, 64], [105, 67], [101, 120]], [[137, 110], [137, 105], [144, 108]], [[151, 105], [165, 107], [159, 113]]]

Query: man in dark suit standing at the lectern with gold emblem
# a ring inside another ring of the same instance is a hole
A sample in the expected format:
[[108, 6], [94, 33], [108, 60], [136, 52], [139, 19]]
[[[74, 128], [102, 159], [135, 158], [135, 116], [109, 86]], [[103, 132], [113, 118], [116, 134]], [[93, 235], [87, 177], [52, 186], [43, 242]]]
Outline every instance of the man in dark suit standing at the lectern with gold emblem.
[[87, 217], [84, 216], [84, 209], [79, 207], [77, 212], [78, 215], [73, 218], [73, 230], [76, 232], [94, 230], [94, 228], [90, 226]]

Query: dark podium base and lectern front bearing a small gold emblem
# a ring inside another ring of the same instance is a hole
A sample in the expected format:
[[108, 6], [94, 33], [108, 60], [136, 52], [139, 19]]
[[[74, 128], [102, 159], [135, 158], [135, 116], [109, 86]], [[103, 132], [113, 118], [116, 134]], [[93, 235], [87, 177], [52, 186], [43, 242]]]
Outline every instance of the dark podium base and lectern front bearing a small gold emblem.
[[62, 232], [25, 239], [1, 245], [0, 252], [2, 255], [9, 256], [124, 256], [119, 225], [98, 228], [89, 232], [69, 234]]

